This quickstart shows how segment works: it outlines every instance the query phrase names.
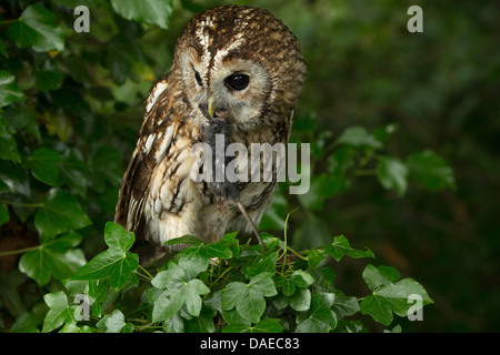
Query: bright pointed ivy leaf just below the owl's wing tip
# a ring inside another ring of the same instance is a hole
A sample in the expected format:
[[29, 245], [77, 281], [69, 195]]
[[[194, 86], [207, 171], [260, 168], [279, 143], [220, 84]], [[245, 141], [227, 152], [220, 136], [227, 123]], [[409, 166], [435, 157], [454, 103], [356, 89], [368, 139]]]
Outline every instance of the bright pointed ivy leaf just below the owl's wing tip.
[[109, 248], [89, 261], [71, 280], [109, 278], [112, 287], [121, 290], [139, 266], [139, 255], [127, 252], [133, 241], [133, 233], [127, 232], [119, 224], [108, 222], [104, 227], [104, 242]]

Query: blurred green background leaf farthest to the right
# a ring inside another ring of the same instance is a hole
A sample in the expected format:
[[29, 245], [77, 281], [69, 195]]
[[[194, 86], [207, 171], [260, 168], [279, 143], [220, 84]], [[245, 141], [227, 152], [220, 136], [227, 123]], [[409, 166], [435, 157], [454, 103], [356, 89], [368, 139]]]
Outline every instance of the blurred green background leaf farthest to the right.
[[407, 166], [410, 179], [422, 187], [431, 191], [456, 187], [453, 170], [433, 151], [426, 150], [408, 156]]

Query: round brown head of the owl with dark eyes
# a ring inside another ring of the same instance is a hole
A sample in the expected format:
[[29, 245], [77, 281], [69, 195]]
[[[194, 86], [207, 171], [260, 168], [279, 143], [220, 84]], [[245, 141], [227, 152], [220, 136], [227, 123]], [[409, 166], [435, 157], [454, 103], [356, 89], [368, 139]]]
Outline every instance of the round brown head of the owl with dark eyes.
[[250, 131], [288, 120], [306, 78], [293, 33], [268, 11], [227, 6], [193, 17], [171, 74], [196, 114]]

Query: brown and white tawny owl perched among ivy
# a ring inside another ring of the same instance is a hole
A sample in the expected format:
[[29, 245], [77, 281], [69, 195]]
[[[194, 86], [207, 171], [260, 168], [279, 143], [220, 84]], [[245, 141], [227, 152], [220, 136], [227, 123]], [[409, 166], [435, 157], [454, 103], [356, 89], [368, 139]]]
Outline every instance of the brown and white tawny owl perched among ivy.
[[214, 133], [248, 148], [288, 143], [304, 79], [297, 38], [266, 10], [218, 7], [188, 22], [170, 72], [148, 93], [117, 203], [114, 221], [136, 234], [141, 263], [182, 247], [164, 245], [174, 237], [252, 232], [249, 221], [258, 224], [270, 205], [276, 176], [197, 182], [192, 149]]

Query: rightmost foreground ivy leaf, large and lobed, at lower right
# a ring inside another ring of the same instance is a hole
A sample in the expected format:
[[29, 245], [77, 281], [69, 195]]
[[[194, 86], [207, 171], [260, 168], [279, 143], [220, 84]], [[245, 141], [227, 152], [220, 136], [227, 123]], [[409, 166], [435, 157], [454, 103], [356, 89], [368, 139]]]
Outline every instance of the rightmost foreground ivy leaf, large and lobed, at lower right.
[[418, 295], [422, 306], [432, 303], [426, 290], [412, 278], [399, 278], [399, 272], [393, 267], [374, 267], [368, 264], [362, 274], [371, 295], [361, 301], [361, 313], [369, 314], [384, 325], [392, 322], [392, 312], [406, 316], [411, 303], [409, 297]]

